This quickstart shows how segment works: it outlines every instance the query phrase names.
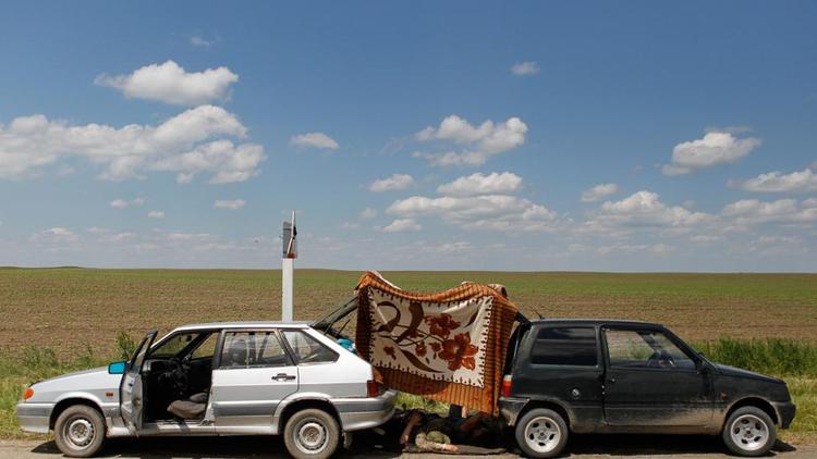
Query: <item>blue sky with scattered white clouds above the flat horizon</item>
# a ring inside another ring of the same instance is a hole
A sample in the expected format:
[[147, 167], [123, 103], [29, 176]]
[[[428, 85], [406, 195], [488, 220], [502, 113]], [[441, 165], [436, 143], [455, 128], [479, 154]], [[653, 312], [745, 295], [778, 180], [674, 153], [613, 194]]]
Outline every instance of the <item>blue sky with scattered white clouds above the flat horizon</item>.
[[0, 265], [815, 271], [813, 2], [4, 2]]

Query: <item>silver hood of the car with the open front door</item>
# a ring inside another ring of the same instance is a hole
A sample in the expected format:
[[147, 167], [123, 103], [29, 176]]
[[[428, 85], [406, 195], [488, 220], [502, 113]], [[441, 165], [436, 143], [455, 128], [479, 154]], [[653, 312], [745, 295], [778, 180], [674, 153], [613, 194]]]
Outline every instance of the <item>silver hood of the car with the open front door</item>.
[[121, 374], [109, 374], [107, 367], [63, 374], [32, 384], [34, 397], [28, 401], [56, 401], [71, 393], [119, 394]]

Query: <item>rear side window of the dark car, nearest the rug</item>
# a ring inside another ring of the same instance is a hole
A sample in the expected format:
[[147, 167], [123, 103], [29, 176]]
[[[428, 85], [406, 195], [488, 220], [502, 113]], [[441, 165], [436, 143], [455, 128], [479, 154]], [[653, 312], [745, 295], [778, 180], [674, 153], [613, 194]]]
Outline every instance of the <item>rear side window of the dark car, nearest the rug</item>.
[[596, 328], [558, 326], [540, 328], [531, 351], [531, 362], [546, 365], [596, 367]]

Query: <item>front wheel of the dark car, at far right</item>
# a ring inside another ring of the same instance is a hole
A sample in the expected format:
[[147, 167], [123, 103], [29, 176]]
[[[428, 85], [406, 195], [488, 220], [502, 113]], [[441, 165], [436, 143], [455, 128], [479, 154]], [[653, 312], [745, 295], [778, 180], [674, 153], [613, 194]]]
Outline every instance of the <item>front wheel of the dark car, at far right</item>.
[[721, 438], [737, 456], [757, 457], [769, 452], [777, 439], [775, 421], [757, 407], [742, 407], [727, 419]]

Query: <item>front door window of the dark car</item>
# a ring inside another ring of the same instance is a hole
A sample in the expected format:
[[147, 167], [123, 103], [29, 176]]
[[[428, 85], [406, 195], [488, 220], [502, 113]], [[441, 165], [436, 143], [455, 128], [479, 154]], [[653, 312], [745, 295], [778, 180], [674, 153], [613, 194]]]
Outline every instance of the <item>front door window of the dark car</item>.
[[695, 361], [666, 334], [649, 330], [605, 330], [613, 368], [695, 370]]

